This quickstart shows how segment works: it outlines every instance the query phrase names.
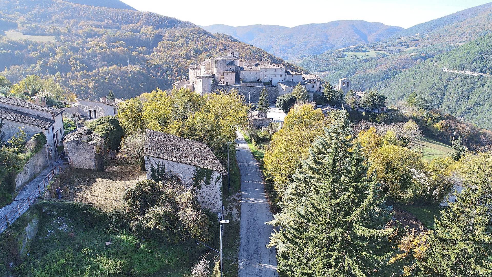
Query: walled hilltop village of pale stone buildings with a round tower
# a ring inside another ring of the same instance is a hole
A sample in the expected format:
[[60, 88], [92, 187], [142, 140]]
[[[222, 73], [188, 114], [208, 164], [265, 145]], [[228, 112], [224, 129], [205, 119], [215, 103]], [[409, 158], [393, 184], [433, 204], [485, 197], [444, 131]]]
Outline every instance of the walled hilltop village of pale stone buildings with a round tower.
[[228, 51], [225, 56], [191, 65], [189, 79], [178, 81], [173, 87], [200, 94], [236, 89], [248, 102], [257, 102], [263, 88], [267, 88], [270, 102], [275, 101], [278, 95], [292, 92], [299, 83], [309, 92], [320, 90], [318, 75], [302, 74], [285, 68], [281, 63], [240, 61], [238, 57], [237, 51]]

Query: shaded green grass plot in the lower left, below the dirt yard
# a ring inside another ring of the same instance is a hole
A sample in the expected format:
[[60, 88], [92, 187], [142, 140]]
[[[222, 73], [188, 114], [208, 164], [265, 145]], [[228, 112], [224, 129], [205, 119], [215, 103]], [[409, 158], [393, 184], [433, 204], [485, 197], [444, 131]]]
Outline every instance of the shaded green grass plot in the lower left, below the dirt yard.
[[194, 242], [142, 240], [125, 230], [108, 229], [106, 215], [94, 208], [43, 203], [38, 204], [42, 213], [29, 256], [13, 268], [13, 276], [184, 277], [193, 256], [203, 254]]

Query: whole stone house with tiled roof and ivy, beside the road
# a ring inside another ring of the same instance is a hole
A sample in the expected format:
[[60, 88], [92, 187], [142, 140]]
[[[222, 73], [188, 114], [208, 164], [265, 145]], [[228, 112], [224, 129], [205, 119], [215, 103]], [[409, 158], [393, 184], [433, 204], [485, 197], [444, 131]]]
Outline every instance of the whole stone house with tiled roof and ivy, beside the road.
[[144, 159], [147, 179], [156, 170], [173, 174], [196, 192], [202, 208], [222, 211], [222, 175], [227, 171], [207, 144], [147, 129]]

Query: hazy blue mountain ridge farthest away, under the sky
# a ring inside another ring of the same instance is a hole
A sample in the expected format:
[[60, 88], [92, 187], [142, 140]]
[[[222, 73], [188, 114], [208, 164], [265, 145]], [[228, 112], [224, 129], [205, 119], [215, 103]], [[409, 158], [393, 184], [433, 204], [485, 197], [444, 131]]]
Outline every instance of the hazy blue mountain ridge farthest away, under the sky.
[[211, 33], [225, 33], [283, 59], [322, 54], [355, 44], [376, 42], [404, 29], [379, 22], [338, 20], [296, 27], [248, 25], [232, 27], [216, 24], [203, 27]]

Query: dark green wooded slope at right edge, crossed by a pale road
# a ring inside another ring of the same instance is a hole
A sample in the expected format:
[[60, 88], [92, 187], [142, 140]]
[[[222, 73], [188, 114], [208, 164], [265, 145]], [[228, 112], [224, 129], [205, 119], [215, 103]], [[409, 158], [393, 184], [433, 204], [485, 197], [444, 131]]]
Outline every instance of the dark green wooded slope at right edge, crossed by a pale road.
[[411, 92], [426, 96], [443, 112], [492, 128], [492, 76], [443, 71], [492, 71], [492, 34], [437, 55], [382, 82], [376, 88], [393, 102]]

